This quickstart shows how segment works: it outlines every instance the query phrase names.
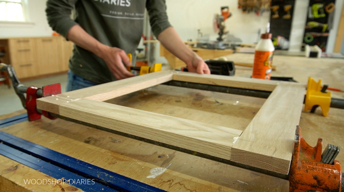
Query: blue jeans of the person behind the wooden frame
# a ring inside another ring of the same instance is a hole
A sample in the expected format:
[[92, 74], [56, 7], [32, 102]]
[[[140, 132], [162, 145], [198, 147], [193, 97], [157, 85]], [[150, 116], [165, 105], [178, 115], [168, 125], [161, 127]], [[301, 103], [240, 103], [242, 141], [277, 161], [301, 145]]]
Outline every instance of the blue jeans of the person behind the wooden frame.
[[86, 87], [91, 87], [98, 85], [99, 83], [87, 80], [83, 77], [80, 77], [78, 75], [75, 75], [73, 71], [69, 70], [68, 71], [68, 80], [67, 80], [67, 86], [66, 86], [66, 91], [73, 91], [77, 89], [82, 89]]

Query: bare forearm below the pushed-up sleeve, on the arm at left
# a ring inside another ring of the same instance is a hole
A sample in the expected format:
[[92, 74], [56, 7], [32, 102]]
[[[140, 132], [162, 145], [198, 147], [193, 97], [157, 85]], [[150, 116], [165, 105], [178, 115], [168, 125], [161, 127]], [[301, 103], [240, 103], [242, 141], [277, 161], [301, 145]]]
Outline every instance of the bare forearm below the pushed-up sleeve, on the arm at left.
[[102, 57], [102, 53], [109, 46], [100, 43], [93, 36], [89, 35], [79, 25], [74, 25], [67, 33], [67, 39], [72, 41], [77, 46], [82, 47], [90, 52], [96, 54], [98, 57]]

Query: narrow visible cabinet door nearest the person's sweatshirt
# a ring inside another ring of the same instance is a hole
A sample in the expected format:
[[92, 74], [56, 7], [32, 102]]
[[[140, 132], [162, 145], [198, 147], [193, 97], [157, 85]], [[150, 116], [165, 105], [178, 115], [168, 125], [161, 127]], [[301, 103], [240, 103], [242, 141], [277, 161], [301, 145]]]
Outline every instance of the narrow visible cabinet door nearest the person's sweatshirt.
[[72, 56], [74, 43], [67, 41], [64, 37], [60, 37], [61, 60], [60, 71], [68, 71], [69, 58]]

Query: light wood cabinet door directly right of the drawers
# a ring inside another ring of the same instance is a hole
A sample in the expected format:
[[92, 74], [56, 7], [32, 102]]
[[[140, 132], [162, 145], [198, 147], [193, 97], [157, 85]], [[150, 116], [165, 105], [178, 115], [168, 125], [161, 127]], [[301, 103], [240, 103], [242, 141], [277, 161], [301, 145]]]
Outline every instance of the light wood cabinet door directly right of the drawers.
[[42, 37], [36, 38], [37, 66], [39, 75], [60, 72], [60, 52], [58, 38]]

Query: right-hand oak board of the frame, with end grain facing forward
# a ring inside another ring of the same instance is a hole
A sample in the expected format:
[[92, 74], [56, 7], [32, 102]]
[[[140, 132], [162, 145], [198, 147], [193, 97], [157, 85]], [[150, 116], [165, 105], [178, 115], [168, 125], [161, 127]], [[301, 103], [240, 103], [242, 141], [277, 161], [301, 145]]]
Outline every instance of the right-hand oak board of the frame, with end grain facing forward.
[[305, 86], [280, 82], [232, 147], [231, 160], [288, 174]]

